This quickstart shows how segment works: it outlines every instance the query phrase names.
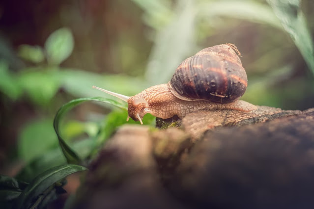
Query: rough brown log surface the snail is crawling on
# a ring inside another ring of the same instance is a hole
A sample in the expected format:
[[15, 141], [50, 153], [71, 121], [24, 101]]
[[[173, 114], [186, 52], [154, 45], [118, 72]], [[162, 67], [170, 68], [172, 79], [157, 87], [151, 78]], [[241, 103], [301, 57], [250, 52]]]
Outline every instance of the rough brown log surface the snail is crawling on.
[[90, 164], [74, 208], [313, 208], [314, 108], [169, 121], [157, 125], [180, 128], [121, 127]]

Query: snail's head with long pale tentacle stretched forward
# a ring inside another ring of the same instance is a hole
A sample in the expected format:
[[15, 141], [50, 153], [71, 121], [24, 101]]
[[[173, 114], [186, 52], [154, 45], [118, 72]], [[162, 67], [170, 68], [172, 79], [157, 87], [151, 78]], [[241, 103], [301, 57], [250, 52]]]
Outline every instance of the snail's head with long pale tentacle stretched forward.
[[129, 118], [132, 118], [134, 121], [140, 121], [141, 124], [143, 124], [142, 119], [146, 113], [149, 113], [149, 104], [146, 100], [137, 98], [137, 95], [133, 97], [124, 96], [122, 94], [117, 94], [96, 86], [93, 86], [93, 88], [98, 89], [100, 91], [106, 92], [107, 94], [110, 94], [116, 98], [119, 98], [123, 100], [124, 102], [128, 103], [128, 117], [126, 121], [129, 121]]

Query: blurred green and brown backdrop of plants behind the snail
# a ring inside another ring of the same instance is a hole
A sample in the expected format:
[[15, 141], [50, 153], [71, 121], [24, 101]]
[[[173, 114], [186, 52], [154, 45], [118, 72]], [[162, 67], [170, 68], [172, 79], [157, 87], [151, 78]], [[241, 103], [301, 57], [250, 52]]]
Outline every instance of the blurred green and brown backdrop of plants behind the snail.
[[[92, 85], [131, 96], [168, 82], [181, 61], [218, 44], [235, 44], [242, 54], [249, 80], [243, 100], [314, 107], [314, 2], [284, 9], [276, 2], [1, 1], [0, 173], [29, 181], [65, 163], [54, 116], [72, 99], [110, 98]], [[86, 157], [90, 138], [103, 142], [125, 118], [112, 105], [84, 103], [61, 131]]]

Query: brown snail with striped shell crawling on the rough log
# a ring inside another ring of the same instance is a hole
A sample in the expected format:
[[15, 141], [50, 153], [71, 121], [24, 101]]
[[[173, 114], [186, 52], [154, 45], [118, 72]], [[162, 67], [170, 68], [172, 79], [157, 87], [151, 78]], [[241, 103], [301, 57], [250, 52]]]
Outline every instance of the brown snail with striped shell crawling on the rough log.
[[174, 115], [183, 118], [198, 110], [233, 109], [249, 112], [257, 107], [238, 100], [247, 87], [247, 75], [233, 44], [209, 47], [185, 59], [171, 80], [128, 97], [99, 87], [128, 103], [128, 117], [143, 124], [150, 113], [167, 119]]

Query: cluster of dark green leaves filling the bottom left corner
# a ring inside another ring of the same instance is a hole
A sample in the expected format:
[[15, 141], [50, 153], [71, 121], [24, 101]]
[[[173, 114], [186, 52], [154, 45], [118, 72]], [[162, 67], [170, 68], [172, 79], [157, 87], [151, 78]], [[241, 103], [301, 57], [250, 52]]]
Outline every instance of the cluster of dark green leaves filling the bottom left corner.
[[64, 178], [72, 173], [86, 170], [79, 165], [61, 165], [39, 174], [30, 183], [0, 176], [0, 204], [5, 208], [45, 208], [65, 190]]

